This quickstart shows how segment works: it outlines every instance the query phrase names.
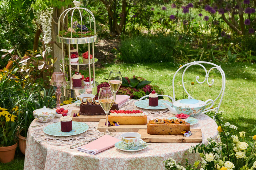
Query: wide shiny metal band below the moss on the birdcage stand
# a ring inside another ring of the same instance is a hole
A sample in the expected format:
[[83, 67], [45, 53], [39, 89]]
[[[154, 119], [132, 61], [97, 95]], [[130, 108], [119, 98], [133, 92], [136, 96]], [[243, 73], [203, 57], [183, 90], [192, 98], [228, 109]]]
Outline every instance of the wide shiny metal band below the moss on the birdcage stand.
[[57, 42], [64, 44], [87, 44], [98, 41], [98, 35], [82, 38], [68, 38], [57, 35]]

